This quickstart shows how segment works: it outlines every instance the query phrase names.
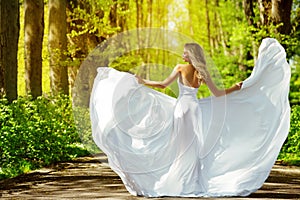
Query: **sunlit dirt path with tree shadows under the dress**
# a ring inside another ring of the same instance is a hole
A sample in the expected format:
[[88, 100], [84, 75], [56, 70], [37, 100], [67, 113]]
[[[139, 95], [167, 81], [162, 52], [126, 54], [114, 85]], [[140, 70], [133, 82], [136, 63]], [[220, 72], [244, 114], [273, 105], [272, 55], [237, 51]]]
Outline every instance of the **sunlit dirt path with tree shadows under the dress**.
[[[0, 181], [0, 199], [146, 199], [130, 195], [106, 157], [84, 157]], [[184, 199], [184, 198], [155, 198]], [[186, 198], [200, 199], [200, 198]], [[232, 199], [232, 198], [218, 198]], [[234, 199], [300, 199], [300, 168], [275, 165], [263, 187]]]

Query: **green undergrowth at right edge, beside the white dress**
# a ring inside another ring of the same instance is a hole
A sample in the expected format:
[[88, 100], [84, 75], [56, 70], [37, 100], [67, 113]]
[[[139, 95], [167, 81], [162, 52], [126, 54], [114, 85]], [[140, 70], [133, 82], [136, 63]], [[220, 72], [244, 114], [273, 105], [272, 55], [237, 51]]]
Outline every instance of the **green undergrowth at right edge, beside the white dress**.
[[292, 107], [290, 132], [283, 145], [279, 160], [286, 164], [300, 165], [300, 106]]

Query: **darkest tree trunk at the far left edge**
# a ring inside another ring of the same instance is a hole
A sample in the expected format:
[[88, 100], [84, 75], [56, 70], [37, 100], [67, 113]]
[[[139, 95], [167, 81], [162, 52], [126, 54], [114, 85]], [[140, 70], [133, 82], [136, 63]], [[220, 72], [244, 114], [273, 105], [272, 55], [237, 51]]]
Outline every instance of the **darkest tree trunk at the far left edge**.
[[17, 99], [19, 0], [0, 1], [0, 97]]

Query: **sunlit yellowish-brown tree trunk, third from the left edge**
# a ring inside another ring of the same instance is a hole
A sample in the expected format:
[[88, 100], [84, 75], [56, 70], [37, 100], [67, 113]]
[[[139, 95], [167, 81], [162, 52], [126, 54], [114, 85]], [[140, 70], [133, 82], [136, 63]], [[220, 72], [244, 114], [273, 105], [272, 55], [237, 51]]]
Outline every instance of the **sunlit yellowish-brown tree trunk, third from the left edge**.
[[49, 0], [50, 87], [52, 94], [69, 94], [66, 0]]

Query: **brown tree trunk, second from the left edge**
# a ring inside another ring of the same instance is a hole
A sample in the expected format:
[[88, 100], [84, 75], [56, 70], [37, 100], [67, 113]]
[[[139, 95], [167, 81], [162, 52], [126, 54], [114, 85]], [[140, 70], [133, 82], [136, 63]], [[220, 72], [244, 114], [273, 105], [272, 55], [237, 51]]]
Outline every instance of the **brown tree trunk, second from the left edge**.
[[36, 98], [42, 95], [44, 1], [25, 0], [24, 12], [26, 93]]

